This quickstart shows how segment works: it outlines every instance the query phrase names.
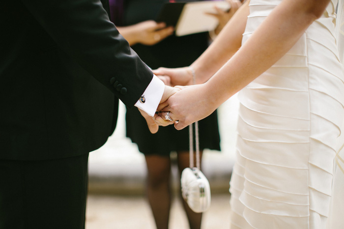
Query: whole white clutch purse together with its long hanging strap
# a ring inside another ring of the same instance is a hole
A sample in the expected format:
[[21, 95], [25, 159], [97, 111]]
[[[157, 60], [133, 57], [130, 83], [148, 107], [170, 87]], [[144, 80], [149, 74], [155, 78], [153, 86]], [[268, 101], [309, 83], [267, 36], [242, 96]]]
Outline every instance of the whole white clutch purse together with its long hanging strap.
[[207, 178], [200, 170], [200, 142], [198, 122], [195, 123], [196, 139], [196, 168], [194, 167], [194, 144], [193, 144], [193, 126], [189, 126], [190, 142], [190, 168], [185, 168], [181, 173], [181, 194], [194, 212], [204, 212], [210, 207], [210, 185]]

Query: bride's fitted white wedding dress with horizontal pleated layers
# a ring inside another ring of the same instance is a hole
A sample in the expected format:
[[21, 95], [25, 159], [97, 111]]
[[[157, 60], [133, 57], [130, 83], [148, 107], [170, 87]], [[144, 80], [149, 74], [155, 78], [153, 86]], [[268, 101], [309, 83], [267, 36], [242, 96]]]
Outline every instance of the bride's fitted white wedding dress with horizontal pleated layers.
[[[243, 43], [281, 1], [251, 0]], [[344, 118], [336, 4], [238, 94], [231, 229], [326, 228]]]

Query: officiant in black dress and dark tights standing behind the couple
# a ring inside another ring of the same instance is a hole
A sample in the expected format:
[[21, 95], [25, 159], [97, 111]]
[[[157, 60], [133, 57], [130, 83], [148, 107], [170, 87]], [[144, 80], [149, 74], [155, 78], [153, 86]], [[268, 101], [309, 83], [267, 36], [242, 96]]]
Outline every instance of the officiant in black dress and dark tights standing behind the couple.
[[[173, 27], [154, 21], [164, 3], [178, 0], [109, 1], [111, 20], [132, 49], [152, 69], [189, 66], [208, 47], [208, 32], [177, 37], [174, 35]], [[232, 5], [229, 12], [216, 8], [217, 13], [212, 14], [219, 19], [219, 26], [210, 32], [213, 39], [241, 5], [239, 1], [228, 1]], [[169, 78], [161, 79], [165, 84], [169, 84]], [[216, 111], [199, 122], [199, 131], [201, 152], [203, 149], [220, 151]], [[188, 128], [176, 130], [173, 126], [168, 126], [160, 128], [156, 134], [151, 134], [140, 113], [135, 109], [127, 109], [126, 136], [131, 138], [132, 142], [138, 145], [139, 151], [145, 155], [148, 201], [157, 228], [167, 229], [172, 198], [170, 153], [177, 154], [180, 175], [184, 168], [189, 167]], [[190, 228], [200, 229], [201, 213], [193, 212], [184, 200], [182, 202]]]

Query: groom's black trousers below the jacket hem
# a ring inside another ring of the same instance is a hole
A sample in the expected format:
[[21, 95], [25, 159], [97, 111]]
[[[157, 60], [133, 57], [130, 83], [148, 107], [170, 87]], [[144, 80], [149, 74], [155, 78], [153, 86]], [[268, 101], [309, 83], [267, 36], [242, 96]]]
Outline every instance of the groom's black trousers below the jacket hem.
[[0, 229], [84, 229], [87, 163], [0, 160]]

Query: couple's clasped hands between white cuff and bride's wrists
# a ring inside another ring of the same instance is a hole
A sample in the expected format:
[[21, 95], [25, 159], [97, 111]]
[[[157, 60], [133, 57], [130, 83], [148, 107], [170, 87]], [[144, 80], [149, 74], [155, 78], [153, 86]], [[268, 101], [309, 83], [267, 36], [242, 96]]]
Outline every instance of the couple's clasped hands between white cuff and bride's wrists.
[[172, 124], [180, 130], [207, 117], [217, 108], [211, 100], [211, 95], [207, 95], [205, 84], [190, 85], [192, 72], [189, 68], [159, 68], [153, 72], [165, 84], [189, 86], [165, 86], [163, 99], [157, 108], [157, 113], [150, 121], [151, 130], [157, 131], [158, 126]]

